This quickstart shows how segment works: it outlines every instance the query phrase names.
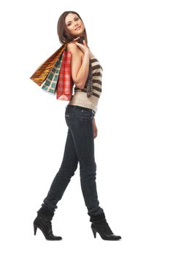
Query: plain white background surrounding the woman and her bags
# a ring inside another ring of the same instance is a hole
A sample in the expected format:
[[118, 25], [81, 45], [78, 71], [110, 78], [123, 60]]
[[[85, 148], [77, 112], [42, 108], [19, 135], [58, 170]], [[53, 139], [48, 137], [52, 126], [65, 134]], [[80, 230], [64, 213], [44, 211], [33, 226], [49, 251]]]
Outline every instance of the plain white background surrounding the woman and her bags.
[[[169, 1], [5, 1], [1, 4], [1, 250], [3, 255], [169, 255]], [[90, 230], [72, 178], [46, 241], [36, 211], [61, 165], [68, 102], [30, 80], [61, 44], [59, 16], [78, 12], [104, 69], [95, 139], [97, 189], [112, 231]], [[1, 254], [2, 255], [2, 254]]]

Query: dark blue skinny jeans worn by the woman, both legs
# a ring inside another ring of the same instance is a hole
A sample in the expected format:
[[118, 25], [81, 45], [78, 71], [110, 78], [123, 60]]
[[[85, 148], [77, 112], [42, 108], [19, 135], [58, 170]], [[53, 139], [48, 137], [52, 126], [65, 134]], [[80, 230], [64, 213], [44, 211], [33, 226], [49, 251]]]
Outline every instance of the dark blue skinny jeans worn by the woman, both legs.
[[63, 192], [69, 184], [78, 162], [80, 162], [80, 182], [85, 206], [88, 208], [88, 215], [104, 213], [99, 206], [96, 190], [96, 162], [94, 157], [93, 139], [93, 116], [94, 111], [90, 108], [67, 105], [65, 111], [68, 134], [63, 154], [61, 167], [43, 200], [42, 206], [55, 211], [56, 204], [61, 200]]

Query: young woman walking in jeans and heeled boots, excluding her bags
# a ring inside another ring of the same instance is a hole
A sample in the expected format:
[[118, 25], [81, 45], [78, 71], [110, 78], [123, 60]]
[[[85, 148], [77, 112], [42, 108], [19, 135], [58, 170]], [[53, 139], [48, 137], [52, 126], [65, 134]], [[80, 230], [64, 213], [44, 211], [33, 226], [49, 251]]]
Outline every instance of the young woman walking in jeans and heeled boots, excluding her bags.
[[[96, 189], [96, 162], [94, 157], [94, 139], [97, 136], [95, 113], [101, 94], [102, 67], [88, 47], [85, 25], [77, 12], [63, 12], [58, 20], [58, 37], [60, 42], [67, 43], [71, 51], [71, 73], [75, 84], [74, 95], [66, 105], [66, 125], [68, 134], [63, 154], [63, 161], [58, 170], [42, 207], [34, 219], [34, 235], [39, 227], [47, 240], [61, 240], [54, 236], [51, 220], [56, 204], [69, 184], [80, 162], [80, 182], [85, 206], [88, 208], [91, 229], [96, 238], [98, 232], [105, 240], [120, 240], [112, 233], [104, 210], [99, 206]], [[85, 38], [82, 43], [75, 39]]]

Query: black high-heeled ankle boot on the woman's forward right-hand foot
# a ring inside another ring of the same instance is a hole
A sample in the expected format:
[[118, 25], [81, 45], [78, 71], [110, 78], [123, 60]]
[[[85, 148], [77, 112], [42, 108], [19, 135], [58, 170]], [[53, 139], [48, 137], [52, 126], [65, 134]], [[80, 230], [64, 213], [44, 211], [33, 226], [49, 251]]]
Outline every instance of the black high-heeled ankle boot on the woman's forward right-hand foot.
[[93, 236], [96, 238], [96, 232], [99, 233], [104, 240], [120, 240], [121, 236], [116, 236], [112, 233], [104, 213], [99, 215], [90, 216], [91, 229], [93, 231]]

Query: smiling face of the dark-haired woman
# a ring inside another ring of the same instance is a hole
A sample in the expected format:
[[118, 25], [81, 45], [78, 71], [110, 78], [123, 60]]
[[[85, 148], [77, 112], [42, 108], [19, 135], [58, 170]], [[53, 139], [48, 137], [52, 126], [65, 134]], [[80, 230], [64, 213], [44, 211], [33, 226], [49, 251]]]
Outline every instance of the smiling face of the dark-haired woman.
[[80, 20], [79, 16], [77, 16], [77, 14], [69, 13], [68, 15], [66, 15], [65, 23], [66, 29], [69, 34], [72, 34], [76, 37], [82, 36], [83, 31], [85, 30], [85, 26], [82, 23], [82, 20]]

